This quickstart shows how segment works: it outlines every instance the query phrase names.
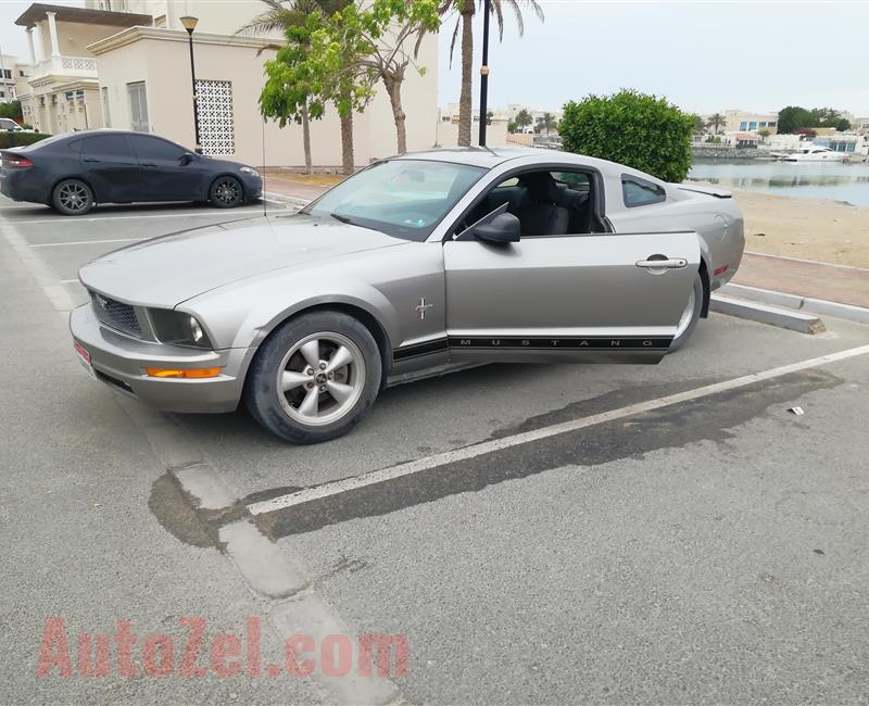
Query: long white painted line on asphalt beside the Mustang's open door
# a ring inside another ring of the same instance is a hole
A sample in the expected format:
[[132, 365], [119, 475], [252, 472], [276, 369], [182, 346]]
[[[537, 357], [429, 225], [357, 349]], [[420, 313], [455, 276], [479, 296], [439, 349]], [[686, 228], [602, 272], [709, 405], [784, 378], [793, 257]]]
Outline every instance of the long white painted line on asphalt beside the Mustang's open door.
[[791, 373], [798, 373], [799, 370], [806, 370], [809, 368], [819, 367], [821, 365], [827, 365], [828, 363], [844, 361], [846, 358], [866, 354], [869, 354], [869, 345], [860, 345], [857, 348], [847, 349], [845, 351], [839, 351], [836, 353], [808, 358], [806, 361], [801, 361], [799, 363], [782, 365], [776, 368], [770, 368], [769, 370], [763, 370], [760, 373], [752, 373], [739, 378], [732, 378], [721, 382], [714, 382], [713, 384], [706, 384], [701, 388], [687, 390], [676, 394], [668, 394], [655, 400], [646, 400], [645, 402], [630, 404], [625, 407], [619, 407], [618, 409], [610, 409], [609, 412], [594, 414], [589, 417], [563, 421], [561, 424], [551, 425], [541, 429], [534, 429], [532, 431], [526, 431], [512, 437], [504, 437], [501, 439], [494, 439], [492, 441], [483, 441], [477, 444], [471, 444], [470, 446], [456, 449], [454, 451], [446, 451], [441, 454], [427, 456], [417, 461], [411, 461], [398, 466], [373, 470], [370, 472], [363, 474], [362, 476], [344, 478], [343, 480], [324, 483], [323, 486], [316, 486], [314, 488], [305, 488], [304, 490], [289, 493], [287, 495], [280, 495], [279, 497], [274, 497], [272, 500], [251, 503], [248, 505], [248, 509], [252, 515], [263, 515], [265, 513], [286, 509], [288, 507], [293, 507], [294, 505], [308, 503], [313, 500], [320, 500], [331, 495], [340, 495], [341, 493], [345, 493], [351, 490], [365, 488], [366, 486], [374, 486], [376, 483], [382, 483], [402, 476], [418, 474], [423, 470], [429, 470], [438, 466], [444, 466], [458, 461], [476, 458], [477, 456], [489, 454], [495, 451], [503, 451], [505, 449], [519, 446], [532, 441], [540, 441], [541, 439], [547, 439], [550, 437], [556, 437], [571, 431], [578, 431], [579, 429], [593, 427], [605, 421], [624, 419], [625, 417], [631, 417], [643, 412], [660, 409], [662, 407], [668, 407], [673, 404], [679, 404], [680, 402], [690, 402], [692, 400], [709, 396], [719, 392], [743, 388], [748, 384], [754, 384], [755, 382], [770, 380], [783, 375], [790, 375]]

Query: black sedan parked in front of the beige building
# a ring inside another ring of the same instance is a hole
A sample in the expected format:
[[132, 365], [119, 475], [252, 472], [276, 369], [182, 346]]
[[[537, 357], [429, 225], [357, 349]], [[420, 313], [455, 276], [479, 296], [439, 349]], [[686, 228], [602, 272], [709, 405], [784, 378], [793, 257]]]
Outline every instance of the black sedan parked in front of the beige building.
[[2, 152], [0, 191], [79, 216], [97, 203], [207, 201], [232, 209], [262, 196], [253, 167], [144, 133], [83, 130]]

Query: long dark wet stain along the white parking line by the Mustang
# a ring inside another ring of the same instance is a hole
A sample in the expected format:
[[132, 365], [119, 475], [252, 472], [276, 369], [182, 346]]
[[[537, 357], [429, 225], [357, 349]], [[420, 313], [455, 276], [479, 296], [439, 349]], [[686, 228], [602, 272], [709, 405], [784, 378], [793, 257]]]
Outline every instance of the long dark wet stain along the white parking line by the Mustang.
[[[268, 537], [278, 539], [350, 519], [385, 515], [449, 495], [477, 492], [488, 486], [552, 468], [593, 467], [622, 458], [642, 458], [653, 451], [698, 441], [726, 442], [735, 436], [732, 428], [766, 414], [770, 407], [793, 403], [808, 392], [834, 388], [842, 382], [841, 378], [824, 370], [793, 373], [638, 414], [630, 419], [634, 423], [631, 428], [625, 427], [625, 420], [587, 427], [267, 513], [257, 517], [257, 524]], [[650, 399], [650, 388], [641, 390], [645, 394], [640, 399]], [[672, 393], [672, 386], [668, 386], [667, 391]], [[564, 409], [533, 417], [514, 428], [512, 433], [516, 433], [516, 429], [534, 429], [576, 418], [568, 416], [570, 412], [575, 415], [581, 412], [579, 416], [587, 416], [617, 408], [639, 401], [626, 399], [637, 392], [614, 392], [575, 403]], [[494, 433], [504, 434], [505, 431]]]

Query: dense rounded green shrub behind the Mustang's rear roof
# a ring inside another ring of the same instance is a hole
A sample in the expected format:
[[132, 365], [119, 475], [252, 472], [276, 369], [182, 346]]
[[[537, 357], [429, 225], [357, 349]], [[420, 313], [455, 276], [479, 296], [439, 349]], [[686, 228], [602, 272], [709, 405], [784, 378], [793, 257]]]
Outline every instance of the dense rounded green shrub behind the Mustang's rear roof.
[[570, 101], [558, 125], [568, 152], [627, 164], [664, 181], [688, 176], [693, 129], [693, 115], [633, 90]]

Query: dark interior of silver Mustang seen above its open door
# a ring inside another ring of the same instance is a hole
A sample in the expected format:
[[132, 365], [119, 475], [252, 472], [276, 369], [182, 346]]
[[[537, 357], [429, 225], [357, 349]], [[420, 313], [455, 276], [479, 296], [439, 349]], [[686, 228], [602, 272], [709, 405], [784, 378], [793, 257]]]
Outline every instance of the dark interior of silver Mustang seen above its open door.
[[524, 172], [490, 189], [464, 223], [471, 225], [506, 204], [522, 237], [602, 232], [593, 190], [593, 178], [582, 172]]

